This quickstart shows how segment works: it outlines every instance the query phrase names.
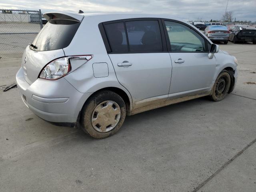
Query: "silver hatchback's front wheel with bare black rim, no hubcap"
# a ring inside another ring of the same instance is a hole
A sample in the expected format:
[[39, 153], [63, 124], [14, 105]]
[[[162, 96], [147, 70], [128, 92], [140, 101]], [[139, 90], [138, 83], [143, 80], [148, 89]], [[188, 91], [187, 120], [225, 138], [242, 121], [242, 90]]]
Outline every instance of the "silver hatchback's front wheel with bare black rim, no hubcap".
[[222, 70], [218, 75], [213, 87], [210, 99], [213, 101], [221, 101], [228, 94], [231, 84], [231, 76], [228, 71]]

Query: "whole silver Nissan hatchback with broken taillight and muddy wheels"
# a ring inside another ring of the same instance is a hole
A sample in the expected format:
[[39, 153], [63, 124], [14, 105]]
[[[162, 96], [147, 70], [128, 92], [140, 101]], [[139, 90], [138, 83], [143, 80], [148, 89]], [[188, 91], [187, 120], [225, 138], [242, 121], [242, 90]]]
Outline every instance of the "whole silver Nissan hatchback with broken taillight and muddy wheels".
[[[25, 105], [94, 138], [116, 133], [126, 115], [209, 96], [236, 84], [237, 60], [196, 27], [151, 14], [44, 14], [16, 75]], [[182, 30], [180, 30], [182, 29]]]

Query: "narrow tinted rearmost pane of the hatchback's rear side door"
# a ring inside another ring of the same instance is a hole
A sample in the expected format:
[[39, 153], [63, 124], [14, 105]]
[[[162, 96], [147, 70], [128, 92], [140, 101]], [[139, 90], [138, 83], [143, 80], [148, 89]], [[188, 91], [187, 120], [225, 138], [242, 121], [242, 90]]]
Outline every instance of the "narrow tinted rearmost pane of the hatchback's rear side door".
[[104, 28], [112, 52], [128, 52], [124, 22], [105, 24]]

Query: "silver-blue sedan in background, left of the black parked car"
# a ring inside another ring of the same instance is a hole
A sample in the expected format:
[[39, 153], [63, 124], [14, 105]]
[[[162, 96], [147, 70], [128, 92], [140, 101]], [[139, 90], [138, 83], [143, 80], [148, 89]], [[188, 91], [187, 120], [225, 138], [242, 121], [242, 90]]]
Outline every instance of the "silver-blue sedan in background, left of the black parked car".
[[224, 25], [209, 25], [204, 30], [204, 34], [211, 41], [224, 42], [224, 44], [228, 43], [229, 33], [227, 26]]

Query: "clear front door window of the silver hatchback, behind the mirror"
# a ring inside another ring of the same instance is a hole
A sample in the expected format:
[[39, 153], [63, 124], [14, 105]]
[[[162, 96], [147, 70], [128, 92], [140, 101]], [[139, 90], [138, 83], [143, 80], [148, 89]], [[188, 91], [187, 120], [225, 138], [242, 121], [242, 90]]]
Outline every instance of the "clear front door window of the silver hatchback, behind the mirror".
[[204, 38], [188, 26], [176, 22], [164, 21], [172, 52], [205, 52]]

